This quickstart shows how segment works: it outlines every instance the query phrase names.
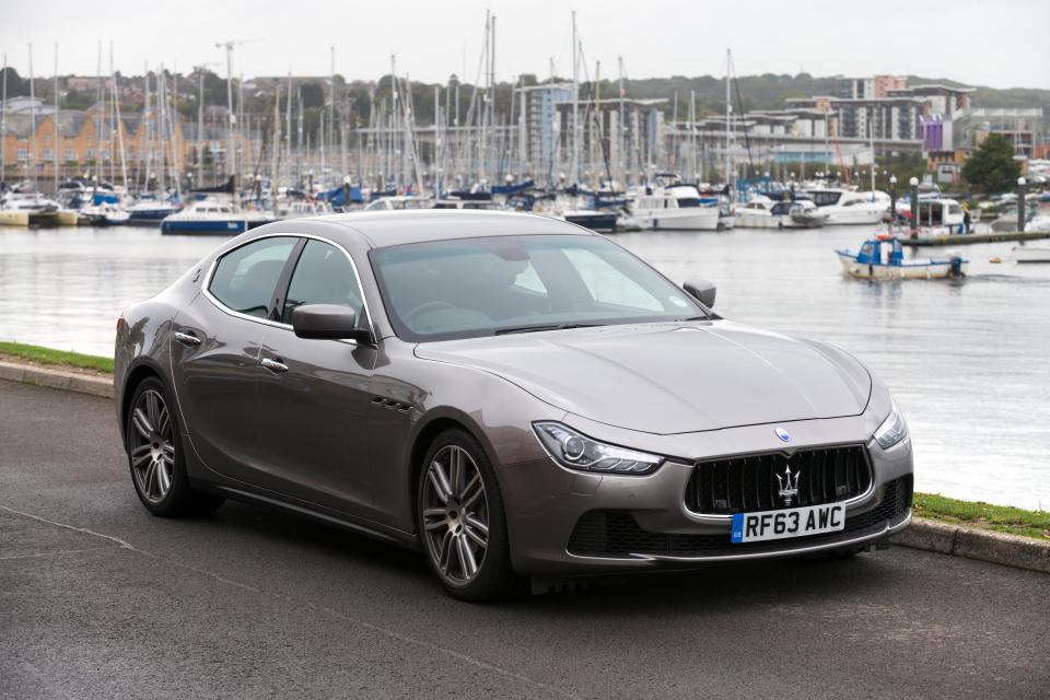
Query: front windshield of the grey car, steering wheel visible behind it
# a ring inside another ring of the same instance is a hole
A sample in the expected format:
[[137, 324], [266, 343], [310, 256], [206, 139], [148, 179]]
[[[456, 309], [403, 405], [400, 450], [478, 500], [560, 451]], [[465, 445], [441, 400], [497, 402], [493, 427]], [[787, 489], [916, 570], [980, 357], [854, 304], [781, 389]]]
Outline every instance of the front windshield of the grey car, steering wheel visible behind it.
[[370, 257], [395, 332], [413, 342], [707, 316], [598, 236], [438, 241]]

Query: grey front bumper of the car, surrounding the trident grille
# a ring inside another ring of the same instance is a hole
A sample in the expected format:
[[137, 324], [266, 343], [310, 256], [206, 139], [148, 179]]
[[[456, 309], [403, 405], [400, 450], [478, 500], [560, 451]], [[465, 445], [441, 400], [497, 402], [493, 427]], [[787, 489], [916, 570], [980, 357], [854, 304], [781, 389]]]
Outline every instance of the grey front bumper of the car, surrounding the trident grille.
[[[910, 438], [884, 451], [862, 438], [859, 431], [870, 427], [861, 421], [806, 422], [813, 423], [809, 430], [792, 425], [792, 434], [801, 439], [792, 447], [843, 442], [866, 446], [872, 488], [848, 501], [843, 532], [734, 545], [730, 516], [702, 515], [686, 506], [692, 462], [667, 462], [655, 474], [631, 477], [571, 471], [544, 458], [500, 469], [514, 567], [527, 574], [565, 575], [797, 556], [863, 548], [907, 527], [912, 502]], [[843, 430], [829, 430], [829, 422]], [[693, 443], [680, 444], [679, 450], [689, 452], [677, 454], [704, 459], [778, 448], [765, 442], [767, 433], [773, 435], [769, 427], [718, 433], [675, 436], [679, 443]]]

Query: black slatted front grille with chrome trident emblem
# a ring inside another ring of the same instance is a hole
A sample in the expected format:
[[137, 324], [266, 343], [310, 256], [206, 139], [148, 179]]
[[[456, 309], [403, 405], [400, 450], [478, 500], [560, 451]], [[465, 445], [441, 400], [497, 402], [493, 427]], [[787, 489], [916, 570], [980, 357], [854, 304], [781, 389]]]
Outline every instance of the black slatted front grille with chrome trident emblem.
[[798, 481], [796, 505], [822, 505], [861, 495], [872, 485], [863, 445], [809, 447], [792, 455], [770, 452], [700, 462], [686, 487], [686, 508], [695, 513], [731, 515], [788, 508], [780, 497], [784, 471]]

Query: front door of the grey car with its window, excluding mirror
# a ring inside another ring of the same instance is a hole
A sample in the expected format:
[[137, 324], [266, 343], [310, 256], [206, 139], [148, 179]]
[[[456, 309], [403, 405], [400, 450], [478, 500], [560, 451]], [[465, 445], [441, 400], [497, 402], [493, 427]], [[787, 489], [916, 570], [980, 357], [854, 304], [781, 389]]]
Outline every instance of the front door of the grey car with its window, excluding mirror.
[[310, 238], [290, 277], [281, 325], [266, 331], [257, 374], [258, 485], [360, 517], [374, 515], [365, 427], [376, 349], [341, 340], [306, 340], [291, 329], [304, 304], [353, 308], [368, 327], [349, 254]]

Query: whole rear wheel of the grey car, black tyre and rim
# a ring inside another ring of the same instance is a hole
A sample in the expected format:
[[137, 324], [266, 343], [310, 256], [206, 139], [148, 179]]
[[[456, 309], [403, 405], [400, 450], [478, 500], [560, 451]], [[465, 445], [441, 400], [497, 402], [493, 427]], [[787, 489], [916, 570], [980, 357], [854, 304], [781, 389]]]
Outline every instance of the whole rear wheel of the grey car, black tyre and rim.
[[225, 501], [189, 485], [178, 417], [156, 377], [139, 383], [125, 417], [125, 451], [135, 492], [153, 515], [177, 517], [211, 513]]

